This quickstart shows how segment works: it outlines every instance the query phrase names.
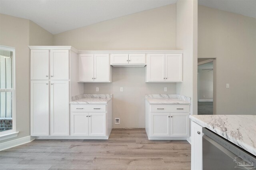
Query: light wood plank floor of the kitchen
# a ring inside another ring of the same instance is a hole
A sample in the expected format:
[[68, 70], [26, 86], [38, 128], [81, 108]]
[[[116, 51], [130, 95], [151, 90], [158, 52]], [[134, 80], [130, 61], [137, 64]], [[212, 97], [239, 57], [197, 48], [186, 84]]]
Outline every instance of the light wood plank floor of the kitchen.
[[187, 141], [152, 141], [145, 129], [108, 140], [35, 140], [0, 152], [0, 169], [190, 170]]

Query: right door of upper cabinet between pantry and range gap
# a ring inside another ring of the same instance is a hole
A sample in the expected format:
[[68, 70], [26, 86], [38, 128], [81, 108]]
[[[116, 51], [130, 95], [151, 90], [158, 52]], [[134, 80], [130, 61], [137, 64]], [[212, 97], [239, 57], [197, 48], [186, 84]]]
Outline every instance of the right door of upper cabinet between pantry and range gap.
[[108, 54], [94, 54], [94, 82], [110, 81], [110, 64]]

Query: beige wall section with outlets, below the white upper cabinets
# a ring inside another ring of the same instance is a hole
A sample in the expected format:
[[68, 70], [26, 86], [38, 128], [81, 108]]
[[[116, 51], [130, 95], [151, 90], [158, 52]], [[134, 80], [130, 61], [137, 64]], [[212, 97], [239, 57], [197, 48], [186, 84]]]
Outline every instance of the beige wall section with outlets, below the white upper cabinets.
[[[112, 83], [84, 83], [84, 93], [113, 94], [113, 119], [120, 118], [120, 125], [114, 128], [145, 127], [145, 94], [176, 93], [176, 83], [145, 83], [145, 67], [112, 69]], [[124, 92], [120, 92], [120, 87]], [[164, 87], [168, 92], [164, 92]]]

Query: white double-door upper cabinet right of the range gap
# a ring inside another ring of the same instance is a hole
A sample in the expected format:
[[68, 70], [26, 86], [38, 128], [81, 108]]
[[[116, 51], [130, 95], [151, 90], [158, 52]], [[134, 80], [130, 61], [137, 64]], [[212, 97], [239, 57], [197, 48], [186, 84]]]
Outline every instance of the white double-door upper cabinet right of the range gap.
[[146, 82], [182, 82], [182, 54], [148, 54]]

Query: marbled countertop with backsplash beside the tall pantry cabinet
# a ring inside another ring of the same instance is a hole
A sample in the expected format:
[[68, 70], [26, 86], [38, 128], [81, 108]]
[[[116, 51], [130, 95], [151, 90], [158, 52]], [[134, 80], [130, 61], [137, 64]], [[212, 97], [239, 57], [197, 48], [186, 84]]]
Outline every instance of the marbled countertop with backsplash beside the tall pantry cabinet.
[[73, 96], [70, 104], [107, 104], [112, 94], [81, 94]]

